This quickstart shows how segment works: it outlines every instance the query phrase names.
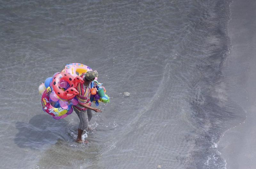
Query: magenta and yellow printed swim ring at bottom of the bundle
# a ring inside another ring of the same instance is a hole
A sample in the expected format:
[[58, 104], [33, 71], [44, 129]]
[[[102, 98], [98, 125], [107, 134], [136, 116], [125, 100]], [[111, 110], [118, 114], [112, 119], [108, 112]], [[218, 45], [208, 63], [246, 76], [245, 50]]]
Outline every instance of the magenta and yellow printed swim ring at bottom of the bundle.
[[61, 107], [59, 108], [53, 107], [50, 103], [49, 90], [47, 89], [44, 90], [44, 93], [42, 94], [41, 103], [42, 103], [43, 110], [51, 116], [62, 116], [72, 108], [71, 105], [68, 106], [68, 109], [62, 109]]

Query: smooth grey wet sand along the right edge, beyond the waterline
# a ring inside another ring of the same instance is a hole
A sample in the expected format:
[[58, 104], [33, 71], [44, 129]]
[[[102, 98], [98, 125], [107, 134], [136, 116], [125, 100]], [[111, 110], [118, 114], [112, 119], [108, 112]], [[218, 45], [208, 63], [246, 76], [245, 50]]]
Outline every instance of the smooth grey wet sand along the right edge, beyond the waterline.
[[[246, 120], [228, 130], [218, 149], [227, 169], [256, 168], [256, 1], [234, 0], [228, 34], [231, 38], [226, 74], [230, 75], [232, 99], [244, 109]], [[240, 90], [239, 90], [240, 88]]]

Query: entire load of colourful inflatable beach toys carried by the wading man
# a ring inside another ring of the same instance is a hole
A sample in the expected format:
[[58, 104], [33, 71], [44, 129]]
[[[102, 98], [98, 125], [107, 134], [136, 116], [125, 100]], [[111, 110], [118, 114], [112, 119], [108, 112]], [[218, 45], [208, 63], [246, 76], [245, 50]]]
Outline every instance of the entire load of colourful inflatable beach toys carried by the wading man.
[[[77, 105], [77, 86], [84, 83], [80, 77], [82, 73], [92, 71], [89, 66], [80, 63], [67, 64], [61, 72], [54, 73], [52, 77], [45, 79], [40, 84], [38, 91], [42, 94], [41, 104], [43, 111], [51, 115], [54, 119], [63, 119], [73, 112], [73, 105]], [[96, 106], [100, 102], [108, 103], [109, 97], [102, 83], [97, 81], [98, 72], [95, 80], [91, 83], [91, 101]]]

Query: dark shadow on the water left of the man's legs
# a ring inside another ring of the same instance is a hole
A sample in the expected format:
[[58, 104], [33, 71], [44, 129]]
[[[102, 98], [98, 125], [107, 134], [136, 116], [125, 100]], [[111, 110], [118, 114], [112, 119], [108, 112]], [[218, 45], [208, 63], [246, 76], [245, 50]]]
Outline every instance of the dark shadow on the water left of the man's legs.
[[68, 122], [65, 119], [55, 120], [49, 115], [36, 115], [28, 123], [18, 121], [16, 128], [19, 132], [14, 142], [20, 148], [31, 148], [42, 150], [47, 145], [55, 144], [59, 139], [66, 140], [66, 127]]

